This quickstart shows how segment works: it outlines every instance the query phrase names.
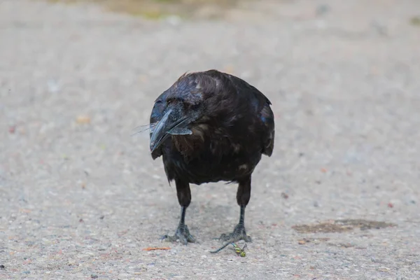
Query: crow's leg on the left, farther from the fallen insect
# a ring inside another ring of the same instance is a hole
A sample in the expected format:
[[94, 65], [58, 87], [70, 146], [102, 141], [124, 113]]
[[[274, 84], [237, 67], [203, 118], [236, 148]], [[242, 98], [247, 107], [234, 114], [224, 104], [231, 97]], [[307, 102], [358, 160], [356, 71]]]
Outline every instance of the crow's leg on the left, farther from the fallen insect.
[[163, 239], [171, 242], [175, 242], [179, 239], [182, 244], [186, 245], [188, 242], [194, 243], [195, 239], [190, 235], [190, 230], [186, 225], [186, 211], [191, 202], [191, 190], [190, 184], [176, 179], [176, 195], [178, 196], [178, 202], [181, 205], [181, 219], [179, 220], [178, 228], [176, 229], [175, 235], [165, 235]]

